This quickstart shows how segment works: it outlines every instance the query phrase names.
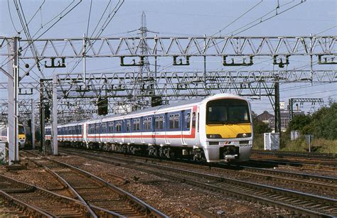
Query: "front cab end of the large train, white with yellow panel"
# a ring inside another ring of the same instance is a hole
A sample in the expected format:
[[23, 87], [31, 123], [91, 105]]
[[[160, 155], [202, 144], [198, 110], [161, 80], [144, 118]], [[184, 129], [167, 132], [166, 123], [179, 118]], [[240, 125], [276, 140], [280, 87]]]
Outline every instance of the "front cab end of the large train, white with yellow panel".
[[250, 104], [243, 98], [214, 98], [200, 108], [200, 136], [208, 162], [239, 162], [252, 148]]

